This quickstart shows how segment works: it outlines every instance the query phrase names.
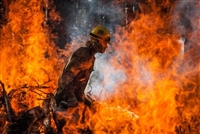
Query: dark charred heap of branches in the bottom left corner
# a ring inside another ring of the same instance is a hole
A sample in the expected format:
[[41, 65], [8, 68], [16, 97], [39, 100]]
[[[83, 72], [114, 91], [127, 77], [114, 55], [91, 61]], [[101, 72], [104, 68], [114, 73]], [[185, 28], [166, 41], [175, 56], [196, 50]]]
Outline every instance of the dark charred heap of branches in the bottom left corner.
[[[4, 84], [0, 81], [2, 88], [2, 96], [0, 96], [1, 107], [4, 106], [4, 110], [0, 116], [0, 125], [3, 128], [1, 132], [6, 131], [8, 134], [13, 133], [40, 133], [41, 128], [44, 127], [45, 133], [55, 134], [55, 130], [51, 127], [51, 112], [55, 111], [56, 103], [53, 98], [53, 94], [47, 94], [47, 98], [44, 99], [42, 107], [36, 106], [28, 111], [22, 111], [18, 116], [15, 115], [15, 111], [12, 109], [10, 101], [13, 97], [16, 97], [16, 93], [23, 92], [23, 88], [29, 88], [31, 92], [39, 94], [34, 91], [38, 88], [47, 88], [46, 86], [28, 87], [22, 86], [18, 90], [11, 90], [6, 93]], [[18, 92], [16, 92], [18, 91]], [[44, 94], [43, 91], [42, 94]], [[19, 94], [19, 93], [18, 93]], [[26, 93], [25, 93], [26, 94]], [[23, 104], [22, 104], [23, 105]], [[25, 106], [27, 108], [27, 106]], [[6, 116], [6, 118], [4, 118]], [[6, 125], [4, 125], [8, 121]]]

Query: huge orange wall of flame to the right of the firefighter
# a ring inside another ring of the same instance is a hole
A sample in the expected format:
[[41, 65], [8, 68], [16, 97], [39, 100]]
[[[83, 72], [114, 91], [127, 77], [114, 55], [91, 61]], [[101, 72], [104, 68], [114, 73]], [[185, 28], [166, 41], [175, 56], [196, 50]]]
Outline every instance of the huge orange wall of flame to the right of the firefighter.
[[[144, 10], [130, 25], [116, 28], [110, 62], [124, 70], [126, 81], [91, 114], [94, 133], [199, 133], [199, 32], [180, 24], [184, 10], [176, 7], [192, 6], [198, 17], [184, 19], [199, 28], [200, 3], [194, 3], [141, 4]], [[166, 8], [171, 10], [162, 11]], [[186, 122], [196, 125], [189, 129]]]

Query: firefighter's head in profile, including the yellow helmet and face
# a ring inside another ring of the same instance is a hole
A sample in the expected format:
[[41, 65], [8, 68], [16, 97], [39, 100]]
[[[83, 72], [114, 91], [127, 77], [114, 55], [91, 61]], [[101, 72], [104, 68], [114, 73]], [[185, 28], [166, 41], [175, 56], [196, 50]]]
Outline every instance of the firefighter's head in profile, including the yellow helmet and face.
[[107, 44], [110, 44], [110, 32], [107, 28], [103, 26], [97, 26], [92, 29], [90, 32], [91, 39], [95, 39], [99, 42], [102, 47], [101, 52], [103, 53], [108, 47]]

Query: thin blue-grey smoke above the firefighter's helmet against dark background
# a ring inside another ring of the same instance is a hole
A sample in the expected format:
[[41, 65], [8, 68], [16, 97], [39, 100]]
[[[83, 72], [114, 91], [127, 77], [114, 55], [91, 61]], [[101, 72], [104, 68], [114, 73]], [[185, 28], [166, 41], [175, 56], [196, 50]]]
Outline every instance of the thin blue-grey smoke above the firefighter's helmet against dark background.
[[72, 40], [79, 36], [87, 36], [97, 25], [103, 25], [114, 33], [116, 25], [124, 19], [123, 8], [113, 1], [101, 2], [97, 0], [80, 0], [67, 5], [66, 32], [70, 33]]

